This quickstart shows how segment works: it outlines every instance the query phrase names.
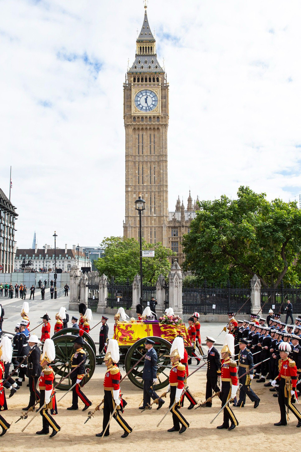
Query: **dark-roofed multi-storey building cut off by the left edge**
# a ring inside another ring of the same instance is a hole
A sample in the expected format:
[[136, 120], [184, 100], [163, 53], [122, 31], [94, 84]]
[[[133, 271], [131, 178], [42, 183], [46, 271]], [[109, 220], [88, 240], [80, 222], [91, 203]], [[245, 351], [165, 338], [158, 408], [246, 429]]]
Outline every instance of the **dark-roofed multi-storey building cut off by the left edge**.
[[16, 207], [0, 188], [0, 273], [14, 271]]

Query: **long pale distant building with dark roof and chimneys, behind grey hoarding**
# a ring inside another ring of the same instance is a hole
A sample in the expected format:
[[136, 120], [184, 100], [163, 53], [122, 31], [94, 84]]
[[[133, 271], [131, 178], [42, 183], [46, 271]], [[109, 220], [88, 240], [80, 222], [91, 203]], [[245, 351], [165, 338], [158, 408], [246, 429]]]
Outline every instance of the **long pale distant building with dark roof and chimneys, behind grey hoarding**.
[[[71, 270], [74, 264], [77, 264], [79, 258], [79, 268], [87, 267], [91, 265], [83, 253], [83, 249], [79, 248], [79, 251], [76, 250], [76, 246], [73, 245], [72, 249], [67, 248], [67, 244], [65, 245], [65, 249], [56, 248], [56, 269], [61, 269], [63, 272], [68, 272]], [[28, 249], [18, 249], [16, 250], [15, 255], [15, 271], [22, 271], [22, 263], [25, 259], [25, 264], [28, 264], [31, 261], [31, 265], [28, 268], [32, 268], [37, 272], [43, 270], [47, 272], [49, 270], [54, 271], [55, 259], [54, 259], [54, 248], [48, 248], [48, 245], [45, 246], [45, 257], [44, 257], [44, 248], [35, 250]]]

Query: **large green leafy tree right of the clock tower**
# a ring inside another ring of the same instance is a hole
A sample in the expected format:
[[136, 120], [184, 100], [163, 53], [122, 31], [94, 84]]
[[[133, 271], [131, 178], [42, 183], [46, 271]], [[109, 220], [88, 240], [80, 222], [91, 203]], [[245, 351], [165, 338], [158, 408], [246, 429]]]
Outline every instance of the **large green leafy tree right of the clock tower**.
[[241, 186], [237, 199], [223, 195], [202, 201], [184, 236], [184, 270], [199, 282], [250, 283], [256, 273], [264, 287], [300, 283], [301, 210]]

